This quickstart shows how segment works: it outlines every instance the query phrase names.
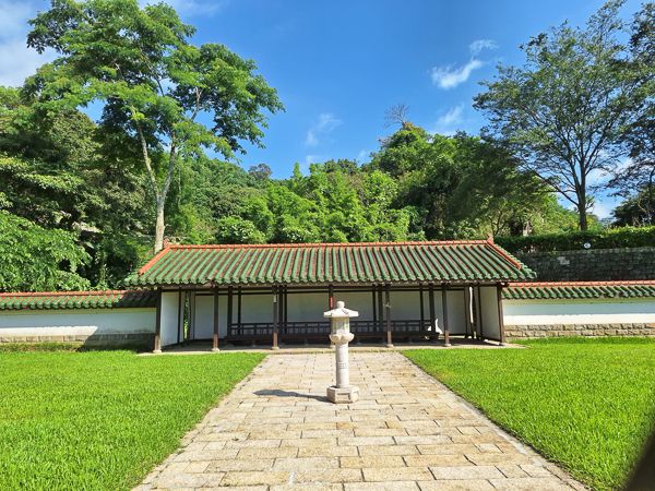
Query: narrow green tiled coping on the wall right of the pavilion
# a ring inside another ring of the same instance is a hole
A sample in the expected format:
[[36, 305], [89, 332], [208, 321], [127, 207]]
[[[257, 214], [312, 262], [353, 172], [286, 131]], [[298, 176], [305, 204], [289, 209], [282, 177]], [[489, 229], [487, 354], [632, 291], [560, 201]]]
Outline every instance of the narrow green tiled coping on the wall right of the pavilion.
[[513, 283], [502, 291], [508, 300], [653, 297], [655, 282]]

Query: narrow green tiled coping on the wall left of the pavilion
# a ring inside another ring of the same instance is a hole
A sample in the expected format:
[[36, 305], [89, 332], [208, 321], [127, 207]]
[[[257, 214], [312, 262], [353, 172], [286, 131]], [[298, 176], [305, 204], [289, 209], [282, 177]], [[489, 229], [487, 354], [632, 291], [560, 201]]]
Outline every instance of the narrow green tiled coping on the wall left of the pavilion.
[[0, 294], [0, 310], [20, 309], [123, 309], [155, 307], [153, 291], [57, 291]]

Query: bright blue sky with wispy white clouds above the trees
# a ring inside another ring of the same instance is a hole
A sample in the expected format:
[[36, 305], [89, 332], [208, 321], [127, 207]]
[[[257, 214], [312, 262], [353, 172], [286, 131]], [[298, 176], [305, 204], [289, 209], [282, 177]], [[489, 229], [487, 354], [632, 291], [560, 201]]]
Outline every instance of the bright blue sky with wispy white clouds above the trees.
[[[145, 3], [145, 2], [144, 2]], [[368, 161], [394, 104], [413, 107], [410, 120], [430, 133], [477, 134], [485, 119], [472, 98], [496, 65], [522, 64], [519, 46], [551, 25], [583, 25], [600, 0], [301, 1], [171, 0], [198, 28], [193, 44], [219, 43], [253, 59], [286, 111], [272, 116], [266, 148], [247, 145], [241, 165], [265, 163], [273, 177], [295, 163], [330, 158]], [[0, 85], [17, 86], [49, 60], [25, 47], [27, 20], [44, 0], [0, 0]], [[640, 2], [622, 9], [630, 17]], [[616, 205], [602, 199], [595, 212]]]

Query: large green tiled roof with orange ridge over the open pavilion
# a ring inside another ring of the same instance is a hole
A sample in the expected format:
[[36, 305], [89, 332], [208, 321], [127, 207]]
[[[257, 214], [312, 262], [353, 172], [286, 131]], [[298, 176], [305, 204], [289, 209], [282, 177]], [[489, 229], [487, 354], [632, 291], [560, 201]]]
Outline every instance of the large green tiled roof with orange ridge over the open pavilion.
[[509, 282], [535, 274], [490, 240], [172, 246], [134, 286]]

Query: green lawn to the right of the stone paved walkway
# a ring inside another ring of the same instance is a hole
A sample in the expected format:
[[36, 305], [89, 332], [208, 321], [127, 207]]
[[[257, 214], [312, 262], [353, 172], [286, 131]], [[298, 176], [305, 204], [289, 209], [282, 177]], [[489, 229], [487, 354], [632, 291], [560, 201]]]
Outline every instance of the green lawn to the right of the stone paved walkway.
[[655, 339], [404, 355], [597, 490], [620, 489], [655, 427]]

